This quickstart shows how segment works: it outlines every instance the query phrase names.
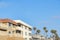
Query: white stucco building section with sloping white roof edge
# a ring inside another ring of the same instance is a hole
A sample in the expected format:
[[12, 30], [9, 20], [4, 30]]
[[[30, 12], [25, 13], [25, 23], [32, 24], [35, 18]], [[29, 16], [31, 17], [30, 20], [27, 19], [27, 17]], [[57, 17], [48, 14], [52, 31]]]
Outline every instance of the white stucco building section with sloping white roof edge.
[[17, 27], [17, 30], [21, 30], [21, 35], [25, 40], [31, 40], [31, 31], [32, 26], [28, 25], [27, 23], [21, 21], [21, 20], [14, 20], [19, 26]]

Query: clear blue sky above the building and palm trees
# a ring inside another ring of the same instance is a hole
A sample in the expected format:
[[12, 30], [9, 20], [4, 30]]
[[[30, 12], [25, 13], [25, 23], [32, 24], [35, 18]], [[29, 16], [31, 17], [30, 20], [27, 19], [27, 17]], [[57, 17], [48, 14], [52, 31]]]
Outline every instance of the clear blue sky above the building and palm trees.
[[46, 26], [60, 35], [60, 0], [0, 0], [0, 18], [23, 20], [41, 34]]

